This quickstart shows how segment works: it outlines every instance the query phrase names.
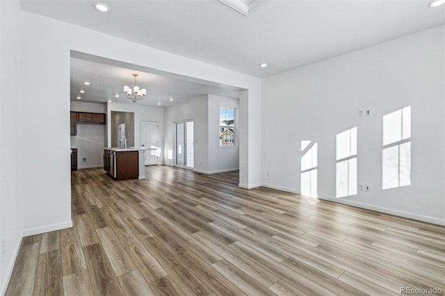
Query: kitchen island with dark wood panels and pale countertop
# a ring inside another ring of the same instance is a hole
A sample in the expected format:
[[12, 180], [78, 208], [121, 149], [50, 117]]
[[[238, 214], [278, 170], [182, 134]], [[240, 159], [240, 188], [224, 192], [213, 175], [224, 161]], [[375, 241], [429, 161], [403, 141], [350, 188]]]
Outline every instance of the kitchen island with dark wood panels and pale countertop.
[[145, 179], [145, 147], [104, 148], [104, 170], [115, 180]]

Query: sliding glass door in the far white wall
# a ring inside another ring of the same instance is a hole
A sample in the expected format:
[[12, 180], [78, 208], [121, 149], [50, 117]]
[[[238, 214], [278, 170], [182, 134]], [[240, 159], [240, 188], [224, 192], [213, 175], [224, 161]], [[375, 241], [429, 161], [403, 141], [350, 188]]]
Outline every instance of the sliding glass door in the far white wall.
[[193, 167], [195, 163], [193, 151], [193, 121], [176, 124], [176, 165]]

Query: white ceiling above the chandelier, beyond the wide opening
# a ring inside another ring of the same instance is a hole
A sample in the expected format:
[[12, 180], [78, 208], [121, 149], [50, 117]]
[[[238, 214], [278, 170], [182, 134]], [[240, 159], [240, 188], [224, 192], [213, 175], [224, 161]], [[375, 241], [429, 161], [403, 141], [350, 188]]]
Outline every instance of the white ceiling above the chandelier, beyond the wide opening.
[[[75, 56], [75, 57], [73, 57]], [[88, 60], [84, 59], [87, 58]], [[133, 76], [138, 74], [137, 82], [140, 88], [146, 88], [145, 97], [136, 104], [161, 107], [179, 104], [188, 99], [200, 97], [204, 94], [216, 94], [224, 97], [239, 97], [238, 88], [225, 85], [212, 85], [206, 81], [196, 81], [184, 77], [173, 77], [171, 74], [153, 74], [152, 70], [126, 63], [106, 60], [94, 56], [75, 52], [71, 58], [71, 101], [86, 101], [93, 103], [106, 103], [108, 99], [113, 102], [134, 104], [124, 94], [124, 85], [133, 88]], [[90, 85], [83, 82], [89, 81]], [[79, 93], [79, 90], [85, 93]], [[81, 99], [76, 99], [80, 94]], [[119, 94], [120, 97], [115, 97]], [[173, 101], [170, 101], [172, 96]]]

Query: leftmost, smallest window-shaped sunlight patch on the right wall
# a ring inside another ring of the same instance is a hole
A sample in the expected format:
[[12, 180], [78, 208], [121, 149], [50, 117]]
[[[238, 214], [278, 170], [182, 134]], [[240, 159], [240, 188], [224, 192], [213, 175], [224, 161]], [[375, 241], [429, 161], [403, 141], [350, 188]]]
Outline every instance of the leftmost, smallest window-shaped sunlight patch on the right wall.
[[317, 197], [317, 154], [318, 145], [316, 142], [302, 140], [300, 145], [301, 156], [301, 174], [300, 187], [301, 195], [308, 197]]

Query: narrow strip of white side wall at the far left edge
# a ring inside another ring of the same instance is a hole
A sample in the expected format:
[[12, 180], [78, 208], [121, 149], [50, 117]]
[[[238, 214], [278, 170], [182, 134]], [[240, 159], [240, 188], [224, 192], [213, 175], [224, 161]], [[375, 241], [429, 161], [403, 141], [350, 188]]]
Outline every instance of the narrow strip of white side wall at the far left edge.
[[[0, 1], [0, 294], [22, 241], [22, 103], [20, 92], [20, 4]], [[26, 172], [24, 172], [26, 174]]]

